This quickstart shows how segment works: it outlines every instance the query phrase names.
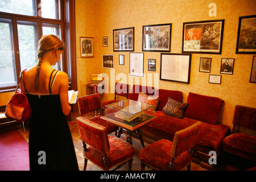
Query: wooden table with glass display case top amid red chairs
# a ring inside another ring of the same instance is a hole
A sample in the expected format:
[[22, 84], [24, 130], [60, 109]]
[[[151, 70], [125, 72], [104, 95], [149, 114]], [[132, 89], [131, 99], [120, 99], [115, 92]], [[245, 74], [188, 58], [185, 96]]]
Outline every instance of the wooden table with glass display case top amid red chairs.
[[154, 112], [150, 112], [155, 110], [154, 107], [153, 105], [128, 99], [106, 105], [105, 116], [101, 118], [119, 127], [117, 137], [122, 134], [122, 129], [126, 129], [127, 142], [131, 144], [133, 143], [131, 133], [135, 131], [141, 140], [142, 147], [144, 147], [139, 128], [155, 119]]

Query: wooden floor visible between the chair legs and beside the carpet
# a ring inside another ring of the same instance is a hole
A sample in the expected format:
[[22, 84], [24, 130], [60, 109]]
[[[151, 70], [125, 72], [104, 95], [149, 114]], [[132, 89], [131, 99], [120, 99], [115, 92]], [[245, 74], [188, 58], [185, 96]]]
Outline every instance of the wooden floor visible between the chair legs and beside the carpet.
[[[76, 157], [77, 157], [77, 163], [79, 164], [79, 169], [82, 171], [84, 168], [84, 156], [83, 156], [83, 148], [82, 148], [82, 142], [79, 136], [79, 131], [77, 129], [77, 123], [76, 123], [76, 118], [79, 117], [78, 113], [72, 113], [71, 114], [71, 122], [69, 122], [69, 129], [71, 130], [71, 134], [72, 134], [72, 138], [73, 138], [73, 144], [75, 147], [75, 151], [76, 151]], [[90, 117], [90, 115], [88, 116]], [[24, 139], [27, 140], [28, 142], [28, 135], [29, 135], [29, 131], [28, 129], [26, 129], [26, 133], [24, 133], [23, 129], [21, 126], [19, 125], [15, 125], [15, 126], [9, 126], [9, 127], [5, 127], [0, 129], [0, 132], [2, 130], [17, 130]], [[114, 136], [114, 133], [110, 134]], [[126, 134], [122, 134], [121, 139], [126, 140]], [[144, 142], [145, 146], [148, 145], [148, 143]], [[133, 147], [135, 150], [134, 153], [134, 157], [133, 157], [133, 166], [132, 166], [132, 171], [140, 171], [141, 170], [141, 162], [139, 160], [138, 157], [138, 152], [142, 149], [141, 146], [141, 142], [136, 139], [133, 138]], [[246, 160], [241, 159], [242, 161], [239, 161], [237, 159], [232, 159], [232, 161], [235, 161], [234, 164], [218, 164], [216, 165], [217, 168], [214, 168], [213, 170], [217, 170], [217, 171], [238, 171], [238, 170], [246, 170], [249, 169], [251, 167], [254, 167], [251, 164], [245, 164]], [[128, 164], [124, 164], [121, 168], [118, 169], [118, 171], [127, 171], [128, 170]], [[145, 169], [146, 171], [150, 170], [146, 167]], [[187, 168], [183, 168], [182, 171], [186, 171]], [[87, 167], [86, 167], [86, 171], [102, 171], [101, 168], [98, 168], [97, 166], [95, 166], [94, 164], [92, 164], [91, 162], [88, 161]], [[191, 164], [191, 171], [208, 171], [206, 168], [201, 167], [200, 164], [197, 163], [193, 163]]]

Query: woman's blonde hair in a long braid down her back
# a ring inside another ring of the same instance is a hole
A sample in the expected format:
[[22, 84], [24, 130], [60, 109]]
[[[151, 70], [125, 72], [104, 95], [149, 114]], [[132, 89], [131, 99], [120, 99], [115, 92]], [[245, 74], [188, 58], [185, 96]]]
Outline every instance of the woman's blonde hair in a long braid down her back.
[[61, 40], [57, 38], [55, 35], [46, 35], [39, 40], [38, 63], [36, 65], [36, 77], [35, 77], [35, 86], [34, 86], [35, 90], [39, 90], [40, 67], [42, 64], [44, 53], [54, 50], [55, 55], [57, 56], [57, 50], [62, 51], [63, 49], [64, 49], [64, 43], [61, 42]]

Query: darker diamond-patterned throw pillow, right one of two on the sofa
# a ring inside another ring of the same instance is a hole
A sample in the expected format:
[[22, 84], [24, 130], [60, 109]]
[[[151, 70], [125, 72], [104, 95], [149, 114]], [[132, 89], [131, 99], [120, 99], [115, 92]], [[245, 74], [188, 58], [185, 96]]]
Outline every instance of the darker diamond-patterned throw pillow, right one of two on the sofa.
[[163, 107], [163, 113], [175, 118], [183, 118], [187, 106], [188, 104], [182, 104], [169, 97], [166, 105]]

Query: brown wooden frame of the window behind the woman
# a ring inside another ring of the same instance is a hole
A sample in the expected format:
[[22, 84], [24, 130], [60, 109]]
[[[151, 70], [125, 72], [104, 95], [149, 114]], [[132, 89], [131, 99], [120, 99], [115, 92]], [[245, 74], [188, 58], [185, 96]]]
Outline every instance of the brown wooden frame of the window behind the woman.
[[[76, 78], [76, 40], [75, 40], [75, 0], [61, 0], [60, 1], [60, 19], [47, 19], [42, 18], [38, 15], [38, 11], [40, 9], [40, 0], [36, 0], [36, 16], [27, 16], [27, 15], [19, 15], [19, 14], [11, 14], [11, 13], [3, 13], [0, 12], [0, 18], [10, 19], [11, 20], [11, 28], [12, 28], [12, 38], [11, 44], [13, 44], [13, 53], [14, 53], [14, 61], [16, 67], [16, 82], [19, 78], [20, 74], [20, 57], [17, 55], [19, 52], [19, 42], [18, 42], [18, 28], [17, 21], [21, 20], [24, 22], [37, 22], [38, 28], [38, 40], [42, 38], [43, 23], [47, 24], [59, 24], [61, 27], [61, 40], [65, 43], [65, 49], [62, 53], [62, 65], [63, 71], [66, 72], [69, 76], [69, 89], [77, 90], [77, 78]], [[67, 13], [69, 12], [69, 13]], [[71, 46], [72, 45], [72, 46]], [[72, 61], [71, 61], [72, 60]], [[14, 86], [6, 86], [0, 88], [0, 93], [2, 92], [11, 92], [16, 88], [16, 84]]]

